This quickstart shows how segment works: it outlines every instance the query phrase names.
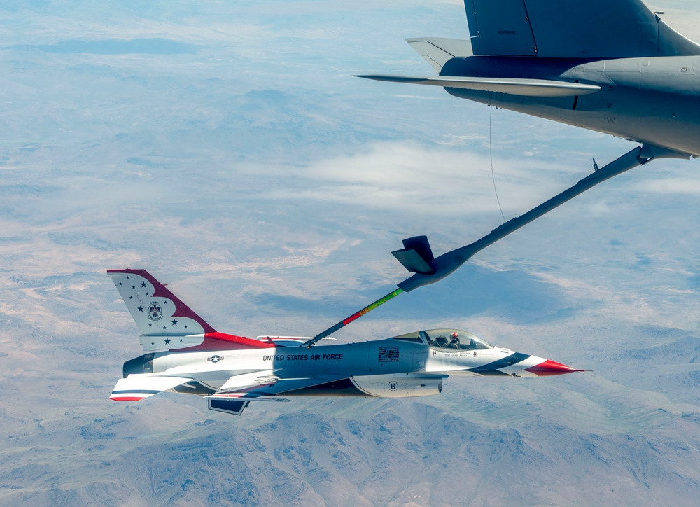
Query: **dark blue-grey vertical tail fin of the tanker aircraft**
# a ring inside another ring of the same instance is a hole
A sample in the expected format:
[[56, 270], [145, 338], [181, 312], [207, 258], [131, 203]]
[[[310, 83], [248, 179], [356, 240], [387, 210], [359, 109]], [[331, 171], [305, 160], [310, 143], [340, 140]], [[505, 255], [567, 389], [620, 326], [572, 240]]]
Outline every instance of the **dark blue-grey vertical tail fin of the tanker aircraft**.
[[700, 55], [642, 0], [464, 0], [475, 55], [631, 58]]

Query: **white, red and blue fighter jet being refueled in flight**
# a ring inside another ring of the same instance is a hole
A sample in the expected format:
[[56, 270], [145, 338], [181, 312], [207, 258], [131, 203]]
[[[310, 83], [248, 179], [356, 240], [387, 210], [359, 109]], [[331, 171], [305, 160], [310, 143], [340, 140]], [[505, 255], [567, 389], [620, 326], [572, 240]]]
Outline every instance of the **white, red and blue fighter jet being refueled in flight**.
[[546, 377], [583, 371], [495, 347], [458, 329], [342, 345], [320, 345], [328, 333], [313, 339], [220, 333], [146, 270], [108, 274], [146, 351], [124, 363], [123, 378], [110, 395], [114, 401], [174, 391], [204, 396], [209, 409], [241, 415], [251, 401], [289, 401], [286, 396], [429, 396], [442, 391], [448, 375]]

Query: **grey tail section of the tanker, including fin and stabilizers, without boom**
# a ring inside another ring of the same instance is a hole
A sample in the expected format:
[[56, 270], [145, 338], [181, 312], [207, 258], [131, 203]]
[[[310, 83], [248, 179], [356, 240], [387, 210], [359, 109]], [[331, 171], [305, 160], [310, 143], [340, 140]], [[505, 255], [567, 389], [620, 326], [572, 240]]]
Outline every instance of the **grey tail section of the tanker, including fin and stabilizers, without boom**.
[[406, 39], [439, 76], [359, 76], [700, 155], [700, 46], [641, 0], [465, 0], [470, 39]]

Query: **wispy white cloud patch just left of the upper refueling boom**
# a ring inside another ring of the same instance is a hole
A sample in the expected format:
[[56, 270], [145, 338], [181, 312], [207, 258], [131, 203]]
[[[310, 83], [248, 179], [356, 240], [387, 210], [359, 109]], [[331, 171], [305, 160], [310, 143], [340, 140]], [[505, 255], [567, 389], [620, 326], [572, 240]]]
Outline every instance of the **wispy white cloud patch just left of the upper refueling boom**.
[[272, 189], [265, 197], [469, 216], [498, 212], [495, 179], [500, 204], [510, 218], [566, 188], [557, 181], [556, 169], [534, 160], [496, 160], [492, 174], [489, 159], [473, 152], [402, 142], [370, 144], [359, 153], [320, 160], [298, 172], [309, 181], [305, 188]]

